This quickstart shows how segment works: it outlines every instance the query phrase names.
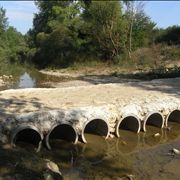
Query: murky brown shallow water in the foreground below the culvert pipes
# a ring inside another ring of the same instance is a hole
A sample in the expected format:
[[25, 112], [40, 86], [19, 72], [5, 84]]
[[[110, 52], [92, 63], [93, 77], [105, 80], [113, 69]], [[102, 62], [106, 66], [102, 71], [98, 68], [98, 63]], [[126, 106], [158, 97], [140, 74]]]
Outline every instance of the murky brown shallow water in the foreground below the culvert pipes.
[[[137, 179], [179, 177], [180, 157], [166, 156], [171, 144], [180, 148], [180, 124], [170, 122], [171, 131], [148, 127], [148, 132], [136, 134], [120, 130], [120, 138], [105, 140], [103, 137], [86, 134], [87, 144], [55, 140], [52, 150], [44, 146], [39, 153], [33, 146], [21, 144], [14, 149], [0, 150], [0, 177], [20, 175], [23, 178], [42, 179], [44, 159], [58, 164], [65, 179], [118, 179], [133, 174]], [[154, 134], [160, 136], [155, 137]], [[177, 142], [176, 142], [177, 141]], [[178, 148], [177, 147], [177, 148]], [[23, 169], [23, 171], [22, 171]], [[166, 172], [161, 172], [163, 170]], [[160, 177], [159, 177], [160, 176]], [[162, 177], [161, 177], [162, 176]]]

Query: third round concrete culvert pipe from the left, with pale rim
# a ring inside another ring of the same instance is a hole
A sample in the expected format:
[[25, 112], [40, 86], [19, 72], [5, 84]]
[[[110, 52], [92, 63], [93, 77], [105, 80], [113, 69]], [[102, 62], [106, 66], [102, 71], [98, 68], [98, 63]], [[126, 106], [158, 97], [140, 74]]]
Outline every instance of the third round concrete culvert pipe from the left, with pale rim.
[[81, 139], [84, 143], [87, 143], [85, 134], [95, 134], [99, 136], [104, 136], [105, 139], [109, 136], [109, 126], [105, 120], [102, 119], [93, 119], [85, 123], [82, 133]]

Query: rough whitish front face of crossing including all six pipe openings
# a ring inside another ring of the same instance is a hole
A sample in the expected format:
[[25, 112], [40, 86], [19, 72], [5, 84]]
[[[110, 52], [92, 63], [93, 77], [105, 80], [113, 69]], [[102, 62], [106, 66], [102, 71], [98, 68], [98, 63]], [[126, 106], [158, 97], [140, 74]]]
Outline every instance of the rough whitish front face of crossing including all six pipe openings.
[[0, 141], [12, 146], [19, 141], [29, 142], [39, 151], [43, 140], [51, 149], [53, 139], [87, 143], [86, 133], [107, 139], [113, 135], [120, 137], [120, 129], [139, 133], [148, 130], [146, 125], [163, 128], [168, 126], [168, 121], [180, 122], [180, 101], [171, 97], [141, 99], [129, 104], [44, 110], [4, 119], [0, 124]]

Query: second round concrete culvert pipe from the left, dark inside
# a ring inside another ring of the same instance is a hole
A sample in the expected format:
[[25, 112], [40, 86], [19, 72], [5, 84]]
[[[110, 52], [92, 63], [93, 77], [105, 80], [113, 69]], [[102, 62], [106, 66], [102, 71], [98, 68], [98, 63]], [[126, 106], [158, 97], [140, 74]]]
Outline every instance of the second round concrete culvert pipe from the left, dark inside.
[[51, 140], [65, 140], [74, 144], [78, 141], [78, 134], [76, 130], [69, 124], [55, 125], [46, 136], [46, 145], [48, 149], [51, 149]]

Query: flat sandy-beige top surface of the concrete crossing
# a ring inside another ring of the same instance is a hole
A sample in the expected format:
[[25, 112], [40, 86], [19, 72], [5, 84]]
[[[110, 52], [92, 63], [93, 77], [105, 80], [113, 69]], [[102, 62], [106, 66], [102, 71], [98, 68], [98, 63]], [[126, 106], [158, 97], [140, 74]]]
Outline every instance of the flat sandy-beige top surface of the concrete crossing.
[[36, 88], [0, 92], [1, 113], [23, 113], [44, 109], [128, 105], [158, 101], [164, 96], [180, 98], [180, 78], [137, 83], [99, 84], [68, 88]]

